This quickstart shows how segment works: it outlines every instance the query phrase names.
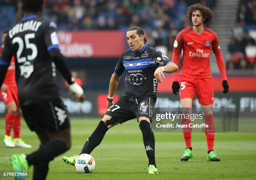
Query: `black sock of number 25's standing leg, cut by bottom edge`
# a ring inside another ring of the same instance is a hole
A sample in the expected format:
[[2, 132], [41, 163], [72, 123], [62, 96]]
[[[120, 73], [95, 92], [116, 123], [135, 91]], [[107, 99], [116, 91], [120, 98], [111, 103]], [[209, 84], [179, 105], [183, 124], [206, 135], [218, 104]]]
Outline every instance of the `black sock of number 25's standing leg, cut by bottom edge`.
[[34, 165], [33, 180], [45, 180], [48, 173], [49, 162]]

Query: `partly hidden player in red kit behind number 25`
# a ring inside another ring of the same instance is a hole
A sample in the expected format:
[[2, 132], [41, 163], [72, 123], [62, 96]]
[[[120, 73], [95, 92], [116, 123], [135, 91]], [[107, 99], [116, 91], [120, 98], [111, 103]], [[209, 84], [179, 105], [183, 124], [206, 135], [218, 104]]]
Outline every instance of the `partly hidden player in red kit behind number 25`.
[[[8, 30], [3, 31], [2, 42], [4, 42]], [[0, 48], [0, 53], [2, 47]], [[15, 146], [22, 148], [31, 148], [31, 145], [24, 143], [20, 138], [20, 105], [18, 102], [18, 88], [15, 81], [15, 59], [14, 56], [10, 61], [10, 65], [5, 75], [5, 80], [0, 90], [0, 100], [2, 100], [7, 107], [7, 115], [5, 117], [5, 138], [4, 144], [8, 148]], [[11, 137], [11, 130], [13, 129], [13, 139]]]

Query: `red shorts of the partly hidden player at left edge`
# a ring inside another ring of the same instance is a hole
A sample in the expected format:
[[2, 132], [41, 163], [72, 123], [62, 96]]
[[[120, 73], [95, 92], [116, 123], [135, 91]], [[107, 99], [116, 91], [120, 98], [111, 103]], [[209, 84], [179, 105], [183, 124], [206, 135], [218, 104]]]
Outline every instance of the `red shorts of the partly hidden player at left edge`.
[[5, 92], [0, 91], [0, 100], [2, 100], [5, 103], [5, 105], [9, 104], [10, 102], [15, 102], [17, 107], [20, 107], [18, 101], [18, 88], [9, 87], [8, 90]]

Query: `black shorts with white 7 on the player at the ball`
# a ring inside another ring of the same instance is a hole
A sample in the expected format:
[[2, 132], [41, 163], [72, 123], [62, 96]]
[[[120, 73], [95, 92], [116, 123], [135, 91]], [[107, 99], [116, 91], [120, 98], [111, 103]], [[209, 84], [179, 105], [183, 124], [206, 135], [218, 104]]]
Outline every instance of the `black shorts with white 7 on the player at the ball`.
[[154, 97], [125, 97], [121, 96], [113, 106], [111, 106], [105, 115], [109, 115], [118, 120], [120, 124], [125, 121], [138, 118], [141, 116], [149, 117], [150, 121], [156, 105]]

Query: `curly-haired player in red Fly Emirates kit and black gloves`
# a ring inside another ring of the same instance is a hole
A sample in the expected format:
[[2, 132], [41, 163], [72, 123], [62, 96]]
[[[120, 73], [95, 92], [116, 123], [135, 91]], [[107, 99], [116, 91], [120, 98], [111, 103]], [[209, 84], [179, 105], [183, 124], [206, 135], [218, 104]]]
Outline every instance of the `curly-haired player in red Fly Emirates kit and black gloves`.
[[[172, 61], [179, 65], [179, 55], [183, 49], [182, 69], [179, 77], [178, 72], [173, 73], [172, 90], [174, 94], [180, 93], [179, 97], [183, 107], [183, 113], [191, 113], [192, 101], [195, 95], [202, 105], [205, 124], [205, 135], [208, 146], [208, 161], [220, 161], [218, 155], [213, 151], [215, 139], [215, 126], [213, 120], [214, 92], [212, 76], [210, 72], [210, 52], [214, 52], [218, 68], [220, 70], [223, 93], [228, 92], [228, 82], [225, 72], [223, 56], [220, 52], [220, 44], [217, 34], [206, 28], [205, 23], [213, 17], [209, 7], [194, 4], [188, 7], [187, 17], [192, 21], [192, 26], [184, 28], [179, 32], [174, 42]], [[183, 125], [191, 123], [190, 119], [182, 119]], [[183, 128], [186, 150], [181, 157], [187, 161], [193, 157], [191, 145], [192, 128]]]

